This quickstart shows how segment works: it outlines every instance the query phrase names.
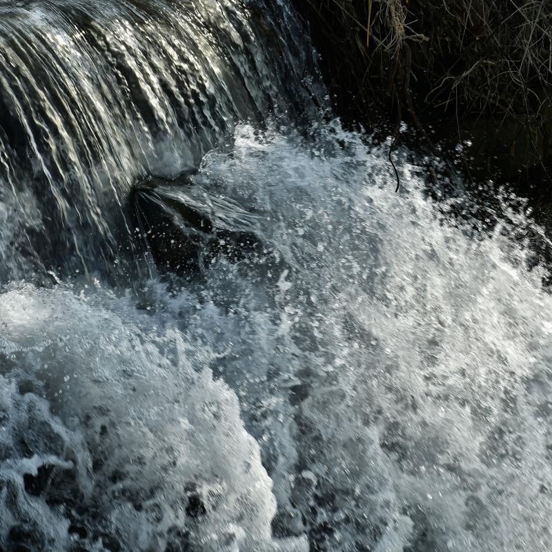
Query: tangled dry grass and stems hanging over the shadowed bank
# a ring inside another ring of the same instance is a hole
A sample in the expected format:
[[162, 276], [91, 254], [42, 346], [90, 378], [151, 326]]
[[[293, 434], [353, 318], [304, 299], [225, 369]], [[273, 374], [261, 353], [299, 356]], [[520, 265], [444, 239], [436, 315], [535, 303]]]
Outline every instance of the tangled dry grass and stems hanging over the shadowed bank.
[[305, 1], [353, 118], [491, 117], [552, 157], [552, 0]]

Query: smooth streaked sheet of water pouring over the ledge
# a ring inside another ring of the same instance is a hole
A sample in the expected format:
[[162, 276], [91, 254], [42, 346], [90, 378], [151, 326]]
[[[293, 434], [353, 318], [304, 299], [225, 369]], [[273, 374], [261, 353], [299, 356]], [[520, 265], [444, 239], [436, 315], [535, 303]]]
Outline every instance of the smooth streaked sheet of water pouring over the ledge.
[[[270, 4], [0, 5], [5, 231], [27, 262], [110, 271], [136, 179], [197, 166], [237, 121], [308, 118], [312, 53], [289, 9]], [[13, 253], [2, 264], [21, 276]]]

